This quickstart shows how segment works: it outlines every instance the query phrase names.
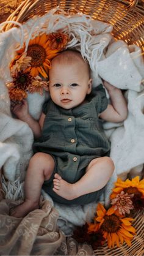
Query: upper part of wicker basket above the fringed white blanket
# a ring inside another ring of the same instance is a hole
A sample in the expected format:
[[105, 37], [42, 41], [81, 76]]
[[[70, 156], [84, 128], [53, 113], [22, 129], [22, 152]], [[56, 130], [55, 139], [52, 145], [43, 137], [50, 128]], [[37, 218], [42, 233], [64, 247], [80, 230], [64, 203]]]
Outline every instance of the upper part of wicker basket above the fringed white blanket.
[[[35, 15], [43, 15], [54, 7], [71, 13], [79, 10], [95, 20], [113, 25], [113, 36], [128, 44], [136, 44], [144, 51], [144, 0], [24, 0], [7, 20], [20, 23]], [[4, 31], [12, 28], [6, 24]]]

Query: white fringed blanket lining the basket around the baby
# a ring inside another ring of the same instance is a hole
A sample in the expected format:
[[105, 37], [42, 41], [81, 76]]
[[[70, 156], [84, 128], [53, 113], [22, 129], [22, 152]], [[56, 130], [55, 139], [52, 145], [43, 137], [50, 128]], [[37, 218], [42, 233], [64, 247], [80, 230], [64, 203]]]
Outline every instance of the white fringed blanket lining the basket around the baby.
[[[21, 198], [23, 181], [29, 159], [32, 156], [34, 137], [25, 122], [12, 118], [10, 100], [5, 82], [12, 80], [9, 62], [15, 48], [29, 43], [40, 31], [49, 33], [62, 29], [71, 36], [68, 48], [76, 48], [87, 58], [92, 69], [93, 86], [101, 83], [101, 78], [118, 88], [126, 90], [128, 118], [124, 123], [104, 123], [104, 130], [111, 141], [111, 153], [115, 172], [107, 184], [101, 201], [107, 205], [113, 182], [117, 176], [126, 178], [142, 175], [144, 163], [144, 61], [141, 50], [136, 45], [128, 46], [121, 40], [115, 41], [110, 34], [112, 25], [90, 20], [81, 14], [73, 16], [55, 15], [51, 10], [43, 17], [27, 21], [20, 28], [10, 29], [0, 34], [0, 168], [3, 167], [2, 182], [6, 198]], [[30, 94], [29, 111], [38, 119], [46, 95]], [[37, 102], [37, 104], [35, 104]], [[8, 181], [5, 181], [5, 178]], [[19, 193], [20, 192], [20, 193]], [[45, 195], [45, 197], [48, 197]], [[96, 203], [85, 206], [64, 206], [54, 203], [59, 210], [59, 226], [70, 233], [73, 225], [82, 225], [95, 213]]]

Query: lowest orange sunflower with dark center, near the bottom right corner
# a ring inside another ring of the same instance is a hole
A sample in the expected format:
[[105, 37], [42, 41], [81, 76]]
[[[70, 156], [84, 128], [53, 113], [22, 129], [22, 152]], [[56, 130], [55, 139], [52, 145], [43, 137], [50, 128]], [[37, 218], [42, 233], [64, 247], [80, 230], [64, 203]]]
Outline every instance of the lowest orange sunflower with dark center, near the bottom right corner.
[[120, 216], [113, 206], [106, 211], [101, 203], [98, 203], [96, 213], [96, 223], [88, 224], [88, 232], [101, 230], [109, 248], [114, 247], [115, 244], [120, 247], [120, 243], [123, 244], [124, 241], [131, 246], [131, 240], [135, 235], [135, 228], [131, 226], [131, 221], [134, 219]]

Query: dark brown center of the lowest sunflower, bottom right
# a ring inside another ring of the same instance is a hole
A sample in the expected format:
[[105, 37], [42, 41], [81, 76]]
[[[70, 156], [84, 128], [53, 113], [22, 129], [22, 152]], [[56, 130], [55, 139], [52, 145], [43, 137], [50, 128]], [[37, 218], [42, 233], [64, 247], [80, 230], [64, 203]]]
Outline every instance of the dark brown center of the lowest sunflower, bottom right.
[[104, 222], [101, 228], [106, 232], [117, 232], [120, 228], [121, 221], [115, 214], [104, 216]]

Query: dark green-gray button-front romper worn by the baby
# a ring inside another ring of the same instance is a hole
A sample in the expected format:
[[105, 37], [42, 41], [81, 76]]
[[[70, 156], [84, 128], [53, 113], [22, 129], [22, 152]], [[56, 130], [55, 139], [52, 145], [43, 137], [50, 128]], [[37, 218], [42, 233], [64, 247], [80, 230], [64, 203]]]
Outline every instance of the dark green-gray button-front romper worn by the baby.
[[54, 173], [43, 184], [43, 189], [54, 201], [84, 205], [98, 200], [102, 194], [103, 189], [67, 200], [52, 190], [52, 180], [54, 174], [59, 173], [68, 183], [76, 183], [93, 159], [109, 156], [110, 143], [98, 118], [106, 108], [107, 97], [103, 85], [93, 90], [84, 104], [70, 110], [57, 106], [51, 99], [43, 105], [46, 117], [42, 135], [34, 143], [34, 152], [46, 152], [54, 158]]

